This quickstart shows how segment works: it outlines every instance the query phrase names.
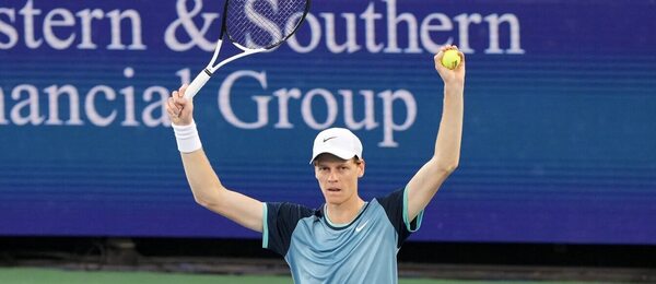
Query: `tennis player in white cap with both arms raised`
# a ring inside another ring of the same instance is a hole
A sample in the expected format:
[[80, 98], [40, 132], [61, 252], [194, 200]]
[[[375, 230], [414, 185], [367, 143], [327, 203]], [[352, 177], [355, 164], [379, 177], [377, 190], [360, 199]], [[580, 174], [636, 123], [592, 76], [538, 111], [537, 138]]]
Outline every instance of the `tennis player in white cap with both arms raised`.
[[296, 283], [397, 283], [396, 253], [421, 225], [424, 208], [458, 166], [462, 133], [465, 56], [454, 70], [434, 57], [444, 81], [444, 105], [435, 151], [405, 188], [368, 202], [358, 193], [364, 175], [362, 143], [351, 131], [331, 128], [314, 141], [311, 163], [326, 203], [308, 209], [262, 203], [225, 188], [213, 171], [194, 123], [185, 86], [173, 92], [167, 113], [196, 201], [262, 233], [262, 247], [284, 257]]

